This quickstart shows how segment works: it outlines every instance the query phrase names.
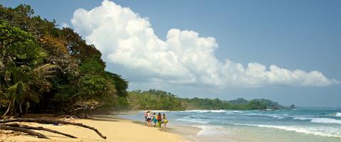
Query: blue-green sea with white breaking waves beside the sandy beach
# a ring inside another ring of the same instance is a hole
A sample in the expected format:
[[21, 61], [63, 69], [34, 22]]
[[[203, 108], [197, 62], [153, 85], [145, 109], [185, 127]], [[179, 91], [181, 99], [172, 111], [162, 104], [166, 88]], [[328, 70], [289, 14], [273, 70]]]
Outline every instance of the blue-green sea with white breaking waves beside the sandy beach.
[[[202, 130], [192, 141], [336, 142], [341, 141], [341, 109], [188, 110], [154, 111], [168, 116], [168, 125], [196, 126]], [[144, 111], [124, 115], [144, 121]]]

